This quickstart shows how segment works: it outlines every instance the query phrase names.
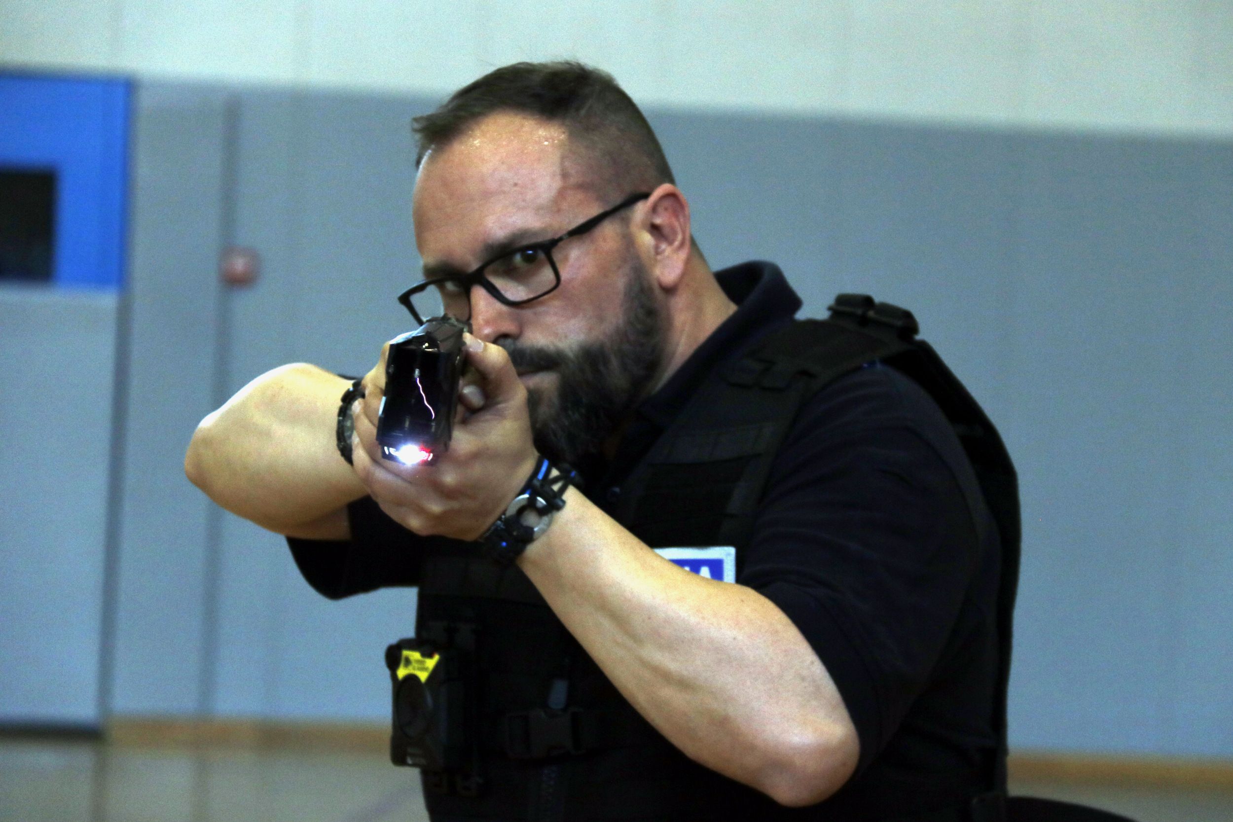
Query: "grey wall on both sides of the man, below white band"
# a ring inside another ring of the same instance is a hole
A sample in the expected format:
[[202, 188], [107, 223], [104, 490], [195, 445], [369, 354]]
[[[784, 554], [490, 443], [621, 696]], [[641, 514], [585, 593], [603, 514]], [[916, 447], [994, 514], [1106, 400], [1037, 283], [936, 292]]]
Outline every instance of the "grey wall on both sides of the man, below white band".
[[[371, 718], [414, 592], [328, 603], [180, 473], [196, 421], [406, 327], [409, 116], [429, 101], [152, 85], [110, 707]], [[1023, 489], [1012, 743], [1233, 755], [1233, 145], [652, 112], [716, 266], [911, 307]], [[264, 275], [219, 293], [217, 249]]]

